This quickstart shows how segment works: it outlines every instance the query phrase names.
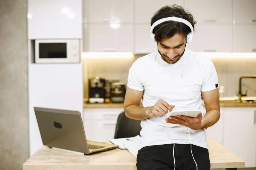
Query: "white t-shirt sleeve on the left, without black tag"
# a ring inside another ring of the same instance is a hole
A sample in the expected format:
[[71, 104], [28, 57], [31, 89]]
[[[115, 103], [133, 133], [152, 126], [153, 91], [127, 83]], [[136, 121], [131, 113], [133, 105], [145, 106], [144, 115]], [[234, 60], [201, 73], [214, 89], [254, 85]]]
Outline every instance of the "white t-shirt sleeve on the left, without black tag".
[[138, 61], [135, 61], [131, 68], [129, 69], [128, 74], [128, 83], [127, 87], [133, 90], [143, 91], [144, 86], [142, 84], [142, 74], [141, 74], [141, 68], [138, 63]]

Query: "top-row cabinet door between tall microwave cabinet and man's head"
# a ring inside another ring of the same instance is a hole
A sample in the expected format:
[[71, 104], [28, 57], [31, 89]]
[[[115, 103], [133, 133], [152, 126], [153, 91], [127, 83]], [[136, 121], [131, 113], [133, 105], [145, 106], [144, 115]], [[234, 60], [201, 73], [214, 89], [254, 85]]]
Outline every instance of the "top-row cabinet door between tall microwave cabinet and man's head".
[[88, 0], [89, 23], [133, 22], [133, 1]]

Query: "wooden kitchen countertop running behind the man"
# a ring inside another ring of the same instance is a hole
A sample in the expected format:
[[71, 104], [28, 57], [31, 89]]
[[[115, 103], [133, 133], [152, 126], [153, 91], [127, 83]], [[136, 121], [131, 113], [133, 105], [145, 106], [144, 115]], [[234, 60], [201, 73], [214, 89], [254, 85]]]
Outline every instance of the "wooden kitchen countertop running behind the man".
[[[248, 102], [242, 102], [242, 103], [235, 103], [235, 102], [229, 102], [229, 101], [220, 101], [221, 107], [256, 107], [256, 103], [248, 103]], [[124, 107], [124, 103], [85, 103], [84, 108], [117, 108], [117, 107]], [[143, 105], [141, 105], [143, 107]]]

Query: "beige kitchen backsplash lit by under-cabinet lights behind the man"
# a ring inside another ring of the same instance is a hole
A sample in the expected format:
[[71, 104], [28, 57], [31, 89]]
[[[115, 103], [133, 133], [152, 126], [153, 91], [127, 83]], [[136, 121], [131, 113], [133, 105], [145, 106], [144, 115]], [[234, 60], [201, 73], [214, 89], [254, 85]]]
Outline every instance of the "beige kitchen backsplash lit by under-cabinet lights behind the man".
[[[255, 54], [256, 55], [256, 54]], [[99, 76], [102, 78], [119, 78], [127, 84], [128, 70], [133, 62], [144, 55], [133, 58], [83, 59], [84, 79]], [[211, 58], [216, 68], [219, 86], [225, 87], [224, 96], [233, 96], [238, 92], [239, 77], [242, 75], [256, 75], [256, 58]], [[88, 75], [88, 77], [87, 77]], [[85, 80], [85, 96], [86, 85]], [[243, 79], [242, 92], [248, 89], [248, 96], [256, 96], [256, 79]]]

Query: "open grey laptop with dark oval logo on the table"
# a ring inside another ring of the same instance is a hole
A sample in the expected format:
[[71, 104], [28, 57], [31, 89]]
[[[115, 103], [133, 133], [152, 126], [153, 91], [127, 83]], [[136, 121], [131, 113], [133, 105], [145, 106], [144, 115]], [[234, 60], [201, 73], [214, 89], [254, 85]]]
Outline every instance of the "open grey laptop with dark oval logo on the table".
[[34, 107], [43, 145], [91, 154], [118, 145], [86, 140], [79, 111]]

